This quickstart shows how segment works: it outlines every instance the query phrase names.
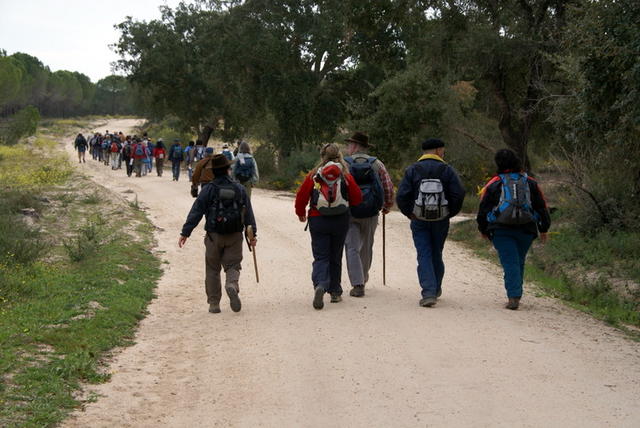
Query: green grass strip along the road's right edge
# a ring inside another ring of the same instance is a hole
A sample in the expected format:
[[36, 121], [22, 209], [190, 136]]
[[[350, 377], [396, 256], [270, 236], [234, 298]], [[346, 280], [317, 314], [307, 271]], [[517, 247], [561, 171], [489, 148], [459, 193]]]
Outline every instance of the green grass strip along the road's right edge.
[[[480, 237], [475, 220], [452, 225], [449, 236], [454, 241], [462, 242], [473, 249], [480, 257], [499, 263], [491, 243]], [[560, 236], [562, 234], [551, 235], [551, 239], [545, 246], [540, 245], [539, 241], [534, 242], [525, 270], [525, 280], [533, 282], [538, 287], [534, 292], [560, 298], [568, 305], [619, 327], [634, 338], [640, 338], [637, 332], [634, 333], [627, 328], [628, 326], [640, 327], [640, 301], [633, 296], [625, 297], [616, 292], [606, 279], [606, 265], [592, 264], [592, 260], [584, 257], [578, 249], [589, 247], [593, 243], [585, 243], [584, 240], [579, 239], [568, 240], [566, 237], [561, 239]], [[596, 248], [600, 253], [612, 251], [605, 243], [601, 243]], [[560, 252], [570, 253], [571, 256], [559, 257]], [[604, 255], [602, 257], [606, 259]], [[549, 260], [553, 258], [557, 259], [554, 263], [550, 263]], [[633, 264], [633, 261], [626, 262]], [[579, 275], [568, 273], [573, 272], [569, 267], [575, 268], [581, 263], [592, 268], [601, 268], [605, 275], [594, 281], [586, 281]]]

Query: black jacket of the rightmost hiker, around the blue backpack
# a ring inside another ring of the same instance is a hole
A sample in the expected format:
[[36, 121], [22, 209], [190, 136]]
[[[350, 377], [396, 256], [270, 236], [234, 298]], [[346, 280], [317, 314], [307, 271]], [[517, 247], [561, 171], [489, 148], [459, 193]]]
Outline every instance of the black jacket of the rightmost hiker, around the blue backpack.
[[499, 223], [489, 223], [487, 214], [489, 214], [500, 202], [502, 193], [502, 180], [498, 176], [492, 178], [484, 188], [482, 199], [480, 200], [480, 208], [478, 209], [478, 230], [483, 235], [492, 236], [492, 232], [496, 229], [519, 229], [532, 235], [538, 235], [538, 231], [546, 233], [551, 227], [551, 217], [547, 209], [547, 202], [544, 195], [538, 187], [538, 183], [531, 177], [528, 177], [529, 191], [531, 192], [531, 206], [538, 214], [538, 221], [527, 224], [507, 225]]

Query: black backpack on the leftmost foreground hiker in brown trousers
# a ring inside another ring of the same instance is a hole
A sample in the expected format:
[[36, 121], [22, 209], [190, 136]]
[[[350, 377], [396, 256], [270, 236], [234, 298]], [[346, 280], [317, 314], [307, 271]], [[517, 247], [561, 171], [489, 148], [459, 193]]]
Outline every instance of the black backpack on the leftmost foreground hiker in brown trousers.
[[230, 182], [208, 185], [214, 187], [214, 196], [207, 216], [207, 231], [220, 235], [242, 232], [244, 205], [240, 189]]

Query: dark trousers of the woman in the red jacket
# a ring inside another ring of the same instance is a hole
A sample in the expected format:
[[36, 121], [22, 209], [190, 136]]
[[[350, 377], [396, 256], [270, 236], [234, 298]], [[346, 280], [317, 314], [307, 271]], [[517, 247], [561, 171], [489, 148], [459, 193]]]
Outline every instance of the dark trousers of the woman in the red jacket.
[[342, 294], [342, 252], [349, 230], [349, 213], [309, 217], [313, 268], [311, 281], [331, 294]]

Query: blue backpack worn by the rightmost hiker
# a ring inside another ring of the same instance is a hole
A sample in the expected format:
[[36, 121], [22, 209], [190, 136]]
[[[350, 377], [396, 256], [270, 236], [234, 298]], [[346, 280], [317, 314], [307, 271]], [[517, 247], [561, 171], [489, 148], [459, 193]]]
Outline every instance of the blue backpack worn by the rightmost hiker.
[[489, 223], [527, 224], [537, 220], [531, 206], [531, 189], [527, 174], [500, 174], [502, 192], [498, 205], [487, 214]]

